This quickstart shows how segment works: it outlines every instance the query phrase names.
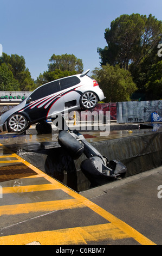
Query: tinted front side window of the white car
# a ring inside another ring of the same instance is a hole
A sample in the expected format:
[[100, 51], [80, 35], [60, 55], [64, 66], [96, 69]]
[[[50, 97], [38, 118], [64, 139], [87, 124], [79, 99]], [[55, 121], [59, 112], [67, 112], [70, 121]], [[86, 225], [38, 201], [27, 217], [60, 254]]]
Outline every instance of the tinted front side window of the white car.
[[38, 87], [33, 94], [30, 95], [31, 100], [35, 101], [41, 99], [42, 97], [46, 97], [50, 94], [57, 93], [60, 91], [59, 81], [53, 81], [43, 86]]

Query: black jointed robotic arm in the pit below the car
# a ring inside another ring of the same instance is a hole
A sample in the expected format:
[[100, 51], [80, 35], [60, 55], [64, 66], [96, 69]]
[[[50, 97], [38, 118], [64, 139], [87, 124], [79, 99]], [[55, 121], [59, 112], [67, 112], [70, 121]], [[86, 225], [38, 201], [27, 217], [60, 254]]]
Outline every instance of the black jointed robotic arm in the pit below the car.
[[111, 179], [125, 175], [124, 164], [116, 160], [108, 161], [86, 141], [81, 133], [62, 130], [59, 132], [58, 140], [61, 147], [66, 149], [74, 160], [85, 154], [87, 159], [81, 162], [81, 170], [92, 184], [102, 185]]

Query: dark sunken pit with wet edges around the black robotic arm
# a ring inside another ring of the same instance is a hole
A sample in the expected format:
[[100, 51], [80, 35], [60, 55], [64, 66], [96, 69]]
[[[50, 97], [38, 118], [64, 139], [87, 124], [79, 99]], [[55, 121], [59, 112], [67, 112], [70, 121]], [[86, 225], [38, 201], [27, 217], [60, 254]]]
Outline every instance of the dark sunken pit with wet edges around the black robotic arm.
[[[127, 126], [128, 127], [128, 126]], [[120, 161], [127, 167], [126, 176], [159, 167], [162, 162], [162, 130], [151, 127], [142, 129], [112, 131], [109, 138], [97, 138], [95, 132], [85, 133], [93, 147], [108, 161]], [[148, 129], [149, 128], [149, 129]], [[16, 137], [16, 136], [15, 136]], [[21, 141], [21, 136], [19, 137]], [[82, 154], [73, 160], [68, 152], [60, 147], [55, 135], [25, 135], [25, 142], [8, 145], [14, 153], [33, 164], [51, 177], [76, 192], [88, 190], [93, 184], [81, 172], [80, 164], [86, 159]], [[111, 179], [108, 182], [115, 182]], [[101, 184], [102, 185], [102, 184]]]

